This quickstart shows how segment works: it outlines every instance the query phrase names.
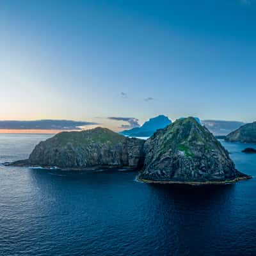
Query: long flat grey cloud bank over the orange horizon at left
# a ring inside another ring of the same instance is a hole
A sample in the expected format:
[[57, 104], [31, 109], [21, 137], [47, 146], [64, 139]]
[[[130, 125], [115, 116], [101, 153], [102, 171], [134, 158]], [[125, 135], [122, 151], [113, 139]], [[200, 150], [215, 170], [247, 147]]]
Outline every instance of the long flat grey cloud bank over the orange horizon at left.
[[20, 130], [81, 130], [79, 126], [97, 125], [94, 122], [79, 122], [72, 120], [2, 120], [0, 121], [0, 129], [20, 129]]

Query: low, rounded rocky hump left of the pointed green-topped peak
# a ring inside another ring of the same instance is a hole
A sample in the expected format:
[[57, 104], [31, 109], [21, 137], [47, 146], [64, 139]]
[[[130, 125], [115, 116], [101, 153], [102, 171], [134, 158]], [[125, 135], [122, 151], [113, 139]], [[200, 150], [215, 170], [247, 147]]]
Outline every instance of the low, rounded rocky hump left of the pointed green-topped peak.
[[24, 164], [77, 169], [93, 166], [138, 168], [144, 142], [100, 127], [81, 132], [61, 132], [36, 145]]

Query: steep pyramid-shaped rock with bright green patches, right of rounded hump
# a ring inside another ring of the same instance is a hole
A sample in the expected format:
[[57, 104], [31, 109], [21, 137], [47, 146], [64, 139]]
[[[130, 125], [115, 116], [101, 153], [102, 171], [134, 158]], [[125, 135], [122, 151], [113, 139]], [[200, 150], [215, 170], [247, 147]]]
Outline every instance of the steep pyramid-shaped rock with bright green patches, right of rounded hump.
[[211, 182], [247, 177], [236, 170], [227, 150], [195, 118], [175, 121], [144, 145], [145, 163], [138, 180]]

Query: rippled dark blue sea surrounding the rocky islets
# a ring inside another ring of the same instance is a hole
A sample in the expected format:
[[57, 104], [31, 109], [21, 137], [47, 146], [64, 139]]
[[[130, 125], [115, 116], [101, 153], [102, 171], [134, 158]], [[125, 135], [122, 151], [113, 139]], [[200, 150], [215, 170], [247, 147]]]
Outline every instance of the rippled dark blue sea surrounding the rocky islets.
[[[0, 161], [47, 137], [0, 134]], [[223, 145], [255, 175], [248, 145]], [[0, 255], [255, 255], [256, 179], [156, 186], [135, 176], [0, 166]]]

